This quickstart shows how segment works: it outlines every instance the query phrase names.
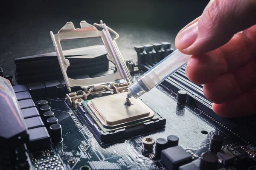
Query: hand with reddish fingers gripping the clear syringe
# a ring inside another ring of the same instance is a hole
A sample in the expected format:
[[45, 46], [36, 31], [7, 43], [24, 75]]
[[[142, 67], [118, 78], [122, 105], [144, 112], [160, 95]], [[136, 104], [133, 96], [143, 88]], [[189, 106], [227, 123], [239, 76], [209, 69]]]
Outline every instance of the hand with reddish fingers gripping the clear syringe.
[[204, 95], [220, 116], [256, 113], [256, 0], [211, 0], [185, 26], [176, 48], [192, 57], [187, 77], [204, 84]]

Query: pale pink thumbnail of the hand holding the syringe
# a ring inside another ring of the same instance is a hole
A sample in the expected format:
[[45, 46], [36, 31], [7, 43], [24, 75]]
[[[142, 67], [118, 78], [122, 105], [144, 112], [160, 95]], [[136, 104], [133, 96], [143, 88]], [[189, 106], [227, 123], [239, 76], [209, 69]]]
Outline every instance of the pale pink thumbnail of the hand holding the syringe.
[[178, 48], [186, 49], [195, 42], [197, 37], [198, 37], [198, 22], [193, 23], [188, 28], [179, 32], [175, 40], [175, 45]]

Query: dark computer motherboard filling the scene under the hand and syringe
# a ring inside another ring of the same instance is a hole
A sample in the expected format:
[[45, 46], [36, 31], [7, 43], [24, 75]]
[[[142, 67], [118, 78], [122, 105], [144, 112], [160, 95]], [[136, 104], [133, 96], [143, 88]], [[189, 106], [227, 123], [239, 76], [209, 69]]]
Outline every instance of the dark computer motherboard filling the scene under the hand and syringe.
[[[111, 28], [94, 26], [107, 42]], [[75, 30], [83, 28], [96, 29], [82, 21]], [[59, 51], [58, 36], [72, 29], [51, 33], [56, 53], [15, 59], [16, 81], [0, 77], [0, 170], [256, 170], [256, 116], [215, 114], [186, 66], [134, 99], [134, 110], [116, 104], [129, 85], [123, 77], [154, 67], [173, 52], [169, 42], [134, 47], [137, 61], [123, 60], [115, 42]]]

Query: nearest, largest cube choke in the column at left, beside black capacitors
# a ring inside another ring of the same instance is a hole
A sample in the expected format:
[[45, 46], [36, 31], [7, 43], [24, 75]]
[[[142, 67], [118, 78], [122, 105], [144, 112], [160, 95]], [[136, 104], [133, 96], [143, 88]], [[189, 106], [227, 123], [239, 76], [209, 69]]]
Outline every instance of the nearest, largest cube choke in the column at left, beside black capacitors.
[[29, 151], [34, 152], [49, 148], [50, 136], [45, 127], [29, 129]]

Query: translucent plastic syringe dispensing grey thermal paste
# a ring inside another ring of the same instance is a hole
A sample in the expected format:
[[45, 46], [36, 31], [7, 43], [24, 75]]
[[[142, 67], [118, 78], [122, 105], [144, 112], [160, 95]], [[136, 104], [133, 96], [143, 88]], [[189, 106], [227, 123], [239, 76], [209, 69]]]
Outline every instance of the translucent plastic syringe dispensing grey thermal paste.
[[[152, 88], [163, 82], [170, 75], [175, 73], [187, 63], [191, 55], [186, 55], [176, 50], [165, 57], [157, 65], [148, 70], [145, 74], [128, 86], [127, 100], [124, 105], [129, 105], [131, 97], [138, 98]], [[128, 102], [128, 103], [127, 103]]]

